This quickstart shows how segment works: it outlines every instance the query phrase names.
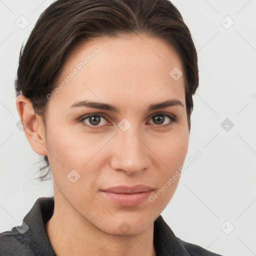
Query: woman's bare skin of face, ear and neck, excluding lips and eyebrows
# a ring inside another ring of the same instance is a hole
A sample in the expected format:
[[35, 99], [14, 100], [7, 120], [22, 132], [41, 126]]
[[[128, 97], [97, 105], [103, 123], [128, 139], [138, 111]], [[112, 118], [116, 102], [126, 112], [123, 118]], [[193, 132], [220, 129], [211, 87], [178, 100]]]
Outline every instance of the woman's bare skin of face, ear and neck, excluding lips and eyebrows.
[[[175, 66], [182, 70], [182, 64], [158, 38], [100, 37], [71, 52], [58, 82], [94, 48], [99, 52], [49, 100], [45, 127], [27, 98], [16, 99], [20, 119], [26, 121], [25, 135], [36, 153], [48, 156], [53, 175], [54, 213], [46, 231], [56, 255], [155, 255], [153, 222], [179, 177], [153, 202], [147, 198], [130, 207], [112, 202], [100, 190], [144, 184], [153, 188], [153, 195], [184, 162], [189, 139], [185, 81], [183, 75], [178, 80], [169, 75]], [[82, 99], [112, 104], [119, 112], [70, 108]], [[184, 107], [147, 110], [167, 99]], [[89, 118], [77, 120], [91, 113], [103, 115], [96, 128]], [[159, 124], [151, 118], [162, 113], [177, 120], [165, 117]], [[131, 124], [126, 131], [118, 126], [123, 118]], [[72, 169], [80, 175], [74, 183], [67, 178]], [[123, 221], [130, 227], [125, 233], [118, 228]]]

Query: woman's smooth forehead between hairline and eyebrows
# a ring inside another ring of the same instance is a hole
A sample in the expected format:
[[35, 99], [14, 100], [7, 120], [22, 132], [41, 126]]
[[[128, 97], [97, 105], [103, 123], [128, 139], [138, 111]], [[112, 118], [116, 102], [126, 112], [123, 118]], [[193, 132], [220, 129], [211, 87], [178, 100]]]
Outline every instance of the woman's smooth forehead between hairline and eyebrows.
[[170, 75], [173, 68], [183, 72], [178, 54], [158, 38], [94, 38], [69, 53], [57, 83], [64, 86], [54, 101], [64, 101], [67, 106], [84, 98], [103, 102], [119, 99], [120, 104], [145, 103], [152, 97], [158, 101], [164, 96], [184, 99], [184, 75], [174, 80]]

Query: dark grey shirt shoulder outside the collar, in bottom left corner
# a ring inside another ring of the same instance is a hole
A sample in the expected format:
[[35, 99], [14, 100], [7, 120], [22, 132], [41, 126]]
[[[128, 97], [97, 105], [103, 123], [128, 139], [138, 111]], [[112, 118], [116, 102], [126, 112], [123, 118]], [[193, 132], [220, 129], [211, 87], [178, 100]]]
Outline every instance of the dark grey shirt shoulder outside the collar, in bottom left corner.
[[23, 235], [15, 227], [0, 233], [0, 255], [34, 256]]

